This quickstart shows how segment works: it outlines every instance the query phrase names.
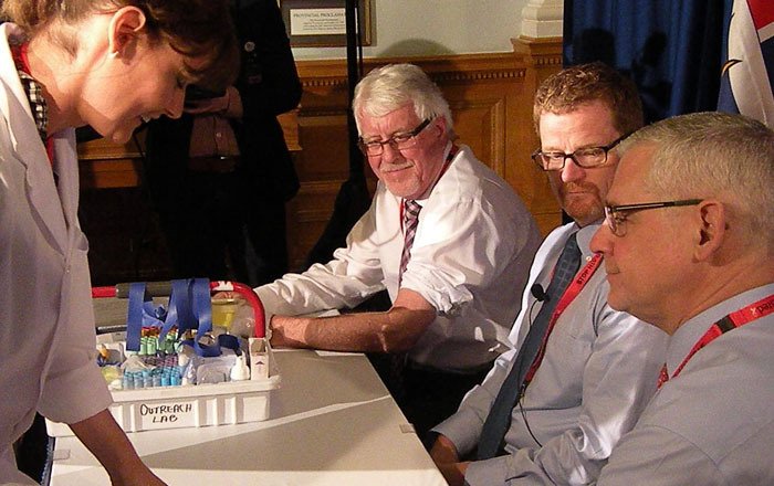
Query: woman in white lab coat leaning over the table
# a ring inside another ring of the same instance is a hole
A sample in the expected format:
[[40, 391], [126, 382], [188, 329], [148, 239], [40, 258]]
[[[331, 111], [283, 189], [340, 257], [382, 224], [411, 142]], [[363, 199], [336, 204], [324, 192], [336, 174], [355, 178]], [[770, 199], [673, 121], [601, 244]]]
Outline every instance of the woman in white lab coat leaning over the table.
[[[107, 410], [94, 362], [74, 127], [125, 142], [237, 66], [220, 0], [3, 0], [0, 25], [0, 484], [35, 411], [71, 425], [114, 485], [161, 482]], [[216, 81], [217, 83], [217, 81]], [[39, 102], [42, 101], [41, 105]]]

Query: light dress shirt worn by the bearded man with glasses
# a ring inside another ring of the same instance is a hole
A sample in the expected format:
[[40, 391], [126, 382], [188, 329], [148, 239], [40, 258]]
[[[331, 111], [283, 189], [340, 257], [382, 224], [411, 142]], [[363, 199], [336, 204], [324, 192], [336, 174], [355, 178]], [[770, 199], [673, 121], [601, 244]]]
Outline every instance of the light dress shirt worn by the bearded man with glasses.
[[[529, 290], [548, 287], [569, 235], [586, 261], [598, 224], [554, 230], [535, 255], [522, 309], [511, 334], [513, 349], [464, 398], [459, 411], [433, 429], [450, 439], [462, 457], [474, 454], [483, 423], [508, 376], [541, 303]], [[629, 431], [656, 390], [667, 335], [607, 305], [604, 265], [569, 304], [551, 334], [545, 356], [505, 434], [509, 454], [470, 464], [470, 485], [588, 484], [619, 437]], [[559, 296], [550, 296], [559, 298]], [[525, 419], [526, 418], [526, 419]], [[535, 435], [538, 445], [532, 437]], [[629, 485], [630, 486], [630, 485]]]

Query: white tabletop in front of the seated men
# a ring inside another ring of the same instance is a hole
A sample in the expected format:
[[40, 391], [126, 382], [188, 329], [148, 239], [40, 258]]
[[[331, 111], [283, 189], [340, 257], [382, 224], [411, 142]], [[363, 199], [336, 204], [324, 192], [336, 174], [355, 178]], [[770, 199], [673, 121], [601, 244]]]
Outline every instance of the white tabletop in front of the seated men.
[[[279, 350], [270, 419], [128, 434], [174, 485], [446, 485], [363, 355]], [[51, 484], [108, 485], [75, 437], [56, 439]]]

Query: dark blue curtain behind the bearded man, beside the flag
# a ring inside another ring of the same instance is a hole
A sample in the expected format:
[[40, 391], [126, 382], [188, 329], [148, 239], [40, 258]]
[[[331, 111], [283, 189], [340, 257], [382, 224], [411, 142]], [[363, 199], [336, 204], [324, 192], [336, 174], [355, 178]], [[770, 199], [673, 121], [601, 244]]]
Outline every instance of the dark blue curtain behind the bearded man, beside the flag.
[[648, 122], [713, 110], [732, 0], [565, 0], [564, 63], [628, 73]]

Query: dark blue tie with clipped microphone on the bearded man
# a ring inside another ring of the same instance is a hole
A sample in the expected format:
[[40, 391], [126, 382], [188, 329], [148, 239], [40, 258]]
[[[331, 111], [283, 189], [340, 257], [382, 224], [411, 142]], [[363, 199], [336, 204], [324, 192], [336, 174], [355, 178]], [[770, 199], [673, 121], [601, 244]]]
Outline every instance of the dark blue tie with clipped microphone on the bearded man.
[[554, 268], [554, 275], [551, 277], [548, 289], [546, 290], [547, 299], [543, 303], [537, 317], [530, 327], [530, 331], [524, 338], [519, 353], [513, 360], [513, 367], [505, 377], [498, 397], [492, 403], [487, 421], [481, 431], [481, 440], [479, 441], [478, 458], [488, 459], [494, 457], [501, 451], [501, 444], [505, 437], [505, 432], [511, 425], [511, 413], [516, 405], [520, 392], [524, 384], [526, 372], [535, 360], [537, 352], [543, 342], [551, 315], [554, 314], [556, 304], [567, 289], [567, 286], [573, 281], [573, 277], [580, 267], [580, 249], [578, 249], [575, 233], [573, 233], [564, 245], [564, 250], [559, 255]]

